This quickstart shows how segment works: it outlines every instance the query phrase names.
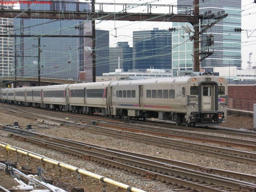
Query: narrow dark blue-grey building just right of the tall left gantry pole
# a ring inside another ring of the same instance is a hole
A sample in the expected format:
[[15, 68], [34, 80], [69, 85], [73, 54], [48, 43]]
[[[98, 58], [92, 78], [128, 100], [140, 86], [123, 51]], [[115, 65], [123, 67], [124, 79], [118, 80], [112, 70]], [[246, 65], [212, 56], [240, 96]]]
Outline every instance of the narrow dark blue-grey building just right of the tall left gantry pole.
[[110, 72], [110, 32], [106, 30], [96, 31], [96, 76], [102, 76], [102, 73]]

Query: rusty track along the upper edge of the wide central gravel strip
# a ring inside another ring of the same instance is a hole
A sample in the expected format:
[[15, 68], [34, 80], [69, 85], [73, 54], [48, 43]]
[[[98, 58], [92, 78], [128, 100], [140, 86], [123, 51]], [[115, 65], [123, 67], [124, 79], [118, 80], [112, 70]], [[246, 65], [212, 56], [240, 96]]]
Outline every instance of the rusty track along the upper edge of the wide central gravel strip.
[[[73, 126], [73, 125], [70, 125]], [[77, 125], [76, 125], [77, 126]], [[4, 126], [6, 127], [6, 126]], [[8, 127], [9, 129], [15, 129], [12, 127]], [[150, 135], [141, 135], [138, 133], [132, 132], [124, 132], [113, 129], [102, 128], [98, 126], [87, 125], [83, 127], [79, 127], [80, 129], [89, 130], [92, 132], [97, 132], [99, 134], [109, 135], [109, 136], [118, 136], [120, 138], [126, 138], [128, 140], [134, 140], [139, 142], [145, 142], [150, 144], [155, 144], [157, 146], [163, 146], [167, 148], [176, 148], [179, 150], [185, 150], [189, 152], [197, 152], [203, 155], [209, 156], [218, 156], [225, 159], [236, 160], [238, 162], [244, 162], [249, 164], [256, 164], [256, 154], [251, 152], [244, 152], [226, 148], [217, 148], [212, 146], [206, 146], [203, 144], [194, 144], [186, 141], [177, 141], [171, 140], [163, 137], [156, 137]], [[17, 131], [17, 129], [15, 129]], [[18, 129], [19, 130], [19, 129]], [[8, 130], [6, 130], [8, 131]], [[20, 132], [27, 132], [26, 130], [20, 130]], [[33, 132], [33, 134], [36, 134]], [[44, 137], [45, 135], [42, 135]], [[211, 150], [211, 151], [209, 151]], [[224, 153], [223, 153], [224, 152]], [[233, 154], [233, 155], [230, 155]], [[239, 155], [239, 156], [238, 156]], [[252, 159], [254, 158], [254, 159]]]

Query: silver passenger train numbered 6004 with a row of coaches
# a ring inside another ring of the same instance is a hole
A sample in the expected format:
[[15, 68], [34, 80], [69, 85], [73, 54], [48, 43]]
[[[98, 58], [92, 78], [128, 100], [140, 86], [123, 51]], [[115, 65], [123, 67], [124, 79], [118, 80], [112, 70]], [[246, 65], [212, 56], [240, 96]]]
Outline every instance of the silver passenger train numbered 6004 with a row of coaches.
[[0, 89], [0, 101], [10, 104], [98, 113], [105, 116], [157, 118], [176, 125], [217, 125], [225, 121], [228, 83], [220, 76], [198, 72], [143, 80], [122, 80]]

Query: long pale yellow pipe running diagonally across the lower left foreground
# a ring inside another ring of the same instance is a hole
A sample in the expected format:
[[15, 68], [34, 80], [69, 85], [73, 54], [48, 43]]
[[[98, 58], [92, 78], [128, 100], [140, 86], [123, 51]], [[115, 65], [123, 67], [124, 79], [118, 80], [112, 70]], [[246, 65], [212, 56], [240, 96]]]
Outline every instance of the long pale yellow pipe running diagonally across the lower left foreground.
[[75, 171], [75, 172], [79, 172], [79, 173], [81, 173], [83, 175], [93, 177], [94, 179], [101, 180], [101, 181], [104, 181], [104, 182], [109, 183], [109, 184], [113, 184], [113, 185], [118, 186], [120, 188], [124, 188], [124, 189], [126, 189], [126, 190], [128, 190], [130, 192], [145, 192], [145, 191], [143, 191], [141, 189], [134, 188], [134, 187], [131, 187], [129, 185], [119, 183], [117, 181], [111, 180], [111, 179], [106, 178], [104, 176], [100, 176], [98, 174], [95, 174], [95, 173], [92, 173], [92, 172], [89, 172], [89, 171], [85, 171], [83, 169], [74, 167], [72, 165], [61, 163], [59, 161], [51, 160], [51, 159], [46, 158], [46, 157], [37, 156], [37, 155], [34, 155], [32, 153], [25, 152], [25, 151], [22, 151], [20, 149], [13, 148], [11, 145], [4, 145], [4, 144], [0, 143], [0, 146], [4, 147], [6, 150], [16, 151], [16, 152], [22, 153], [22, 154], [24, 154], [26, 156], [30, 156], [30, 157], [33, 157], [35, 159], [39, 159], [39, 160], [42, 160], [42, 161], [45, 161], [45, 162], [48, 162], [48, 163], [51, 163], [51, 164], [55, 164], [57, 166], [60, 166], [60, 167], [66, 168], [66, 169], [69, 169], [69, 170], [72, 170], [72, 171]]

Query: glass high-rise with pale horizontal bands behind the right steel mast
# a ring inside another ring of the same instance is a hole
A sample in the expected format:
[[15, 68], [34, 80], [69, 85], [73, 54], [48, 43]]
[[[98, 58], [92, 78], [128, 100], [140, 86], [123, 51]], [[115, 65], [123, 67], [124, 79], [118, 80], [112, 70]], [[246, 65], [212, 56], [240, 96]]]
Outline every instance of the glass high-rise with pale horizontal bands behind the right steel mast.
[[[184, 14], [188, 9], [179, 8], [179, 5], [191, 6], [192, 0], [177, 0], [178, 14]], [[216, 20], [216, 16], [228, 13], [228, 18]], [[241, 68], [241, 34], [235, 28], [241, 27], [241, 0], [236, 1], [199, 1], [199, 14], [203, 15], [200, 30], [218, 21], [200, 35], [201, 70], [211, 71], [213, 67], [236, 66]], [[214, 15], [213, 15], [214, 14]], [[188, 23], [174, 22], [173, 27], [179, 29], [172, 32], [172, 74], [179, 75], [179, 70], [193, 70], [193, 40], [183, 32], [181, 26]], [[190, 25], [190, 24], [188, 24]], [[193, 28], [191, 26], [191, 28]], [[210, 55], [210, 56], [209, 56]], [[208, 56], [208, 57], [205, 57]], [[205, 59], [203, 59], [203, 57]]]

